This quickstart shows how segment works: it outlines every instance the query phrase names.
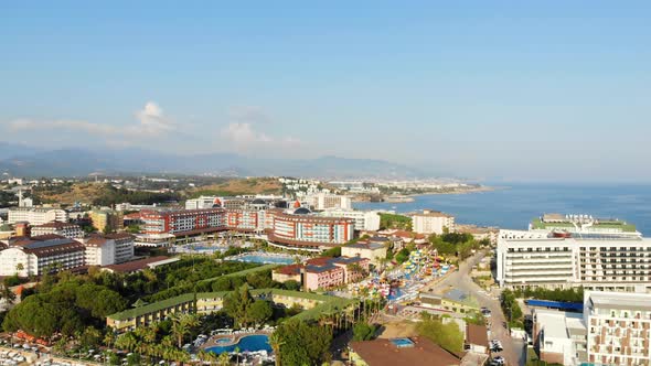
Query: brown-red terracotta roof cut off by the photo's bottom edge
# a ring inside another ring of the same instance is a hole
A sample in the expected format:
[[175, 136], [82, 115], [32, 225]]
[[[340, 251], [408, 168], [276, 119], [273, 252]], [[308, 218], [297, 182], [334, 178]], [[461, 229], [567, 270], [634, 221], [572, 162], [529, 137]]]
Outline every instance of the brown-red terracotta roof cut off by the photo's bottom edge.
[[460, 365], [459, 358], [424, 337], [412, 337], [414, 346], [397, 347], [391, 340], [351, 342], [351, 348], [369, 366]]

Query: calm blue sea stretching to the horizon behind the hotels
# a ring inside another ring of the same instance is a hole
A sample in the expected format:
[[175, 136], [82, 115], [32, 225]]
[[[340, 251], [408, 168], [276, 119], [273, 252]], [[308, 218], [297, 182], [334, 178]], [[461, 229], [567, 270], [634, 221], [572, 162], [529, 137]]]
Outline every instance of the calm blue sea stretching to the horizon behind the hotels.
[[619, 218], [651, 236], [651, 185], [487, 184], [495, 190], [466, 194], [414, 196], [414, 202], [356, 202], [354, 208], [409, 213], [424, 208], [455, 215], [459, 224], [527, 229], [544, 213]]

